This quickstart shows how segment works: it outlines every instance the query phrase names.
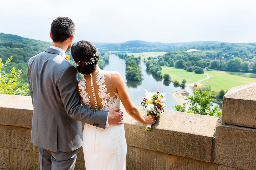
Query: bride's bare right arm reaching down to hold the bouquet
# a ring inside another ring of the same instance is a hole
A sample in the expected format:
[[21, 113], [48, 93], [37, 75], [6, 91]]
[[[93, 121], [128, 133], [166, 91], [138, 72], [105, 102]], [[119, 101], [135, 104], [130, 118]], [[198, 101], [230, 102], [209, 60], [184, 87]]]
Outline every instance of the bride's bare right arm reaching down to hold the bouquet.
[[[121, 74], [119, 72], [116, 71], [111, 71], [110, 73], [111, 76], [111, 85], [113, 87], [113, 90], [115, 92], [118, 93], [120, 100], [122, 101], [122, 104], [126, 110], [126, 112], [136, 121], [145, 124], [145, 125], [150, 125], [150, 124], [154, 124], [154, 120], [155, 120], [155, 115], [149, 115], [147, 117], [143, 117], [142, 114], [140, 113], [140, 111], [138, 110], [138, 108], [133, 104], [123, 77], [121, 76]], [[112, 83], [114, 82], [114, 83]]]

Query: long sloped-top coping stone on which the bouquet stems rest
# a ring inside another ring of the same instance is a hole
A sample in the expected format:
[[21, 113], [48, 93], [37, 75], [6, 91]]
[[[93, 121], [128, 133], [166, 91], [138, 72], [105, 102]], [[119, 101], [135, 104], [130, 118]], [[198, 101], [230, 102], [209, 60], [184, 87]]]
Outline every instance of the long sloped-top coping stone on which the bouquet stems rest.
[[211, 162], [218, 117], [166, 110], [148, 132], [123, 106], [121, 110], [127, 145]]

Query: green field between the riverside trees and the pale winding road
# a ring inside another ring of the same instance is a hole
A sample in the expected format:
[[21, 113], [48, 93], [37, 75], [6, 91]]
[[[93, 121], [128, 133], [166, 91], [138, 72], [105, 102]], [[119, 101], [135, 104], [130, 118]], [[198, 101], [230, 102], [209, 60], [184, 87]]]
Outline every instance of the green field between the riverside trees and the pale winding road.
[[205, 74], [196, 74], [194, 72], [187, 72], [183, 69], [162, 66], [162, 74], [164, 75], [165, 73], [171, 76], [172, 81], [178, 80], [180, 83], [183, 79], [185, 79], [187, 83], [193, 83], [206, 78]]

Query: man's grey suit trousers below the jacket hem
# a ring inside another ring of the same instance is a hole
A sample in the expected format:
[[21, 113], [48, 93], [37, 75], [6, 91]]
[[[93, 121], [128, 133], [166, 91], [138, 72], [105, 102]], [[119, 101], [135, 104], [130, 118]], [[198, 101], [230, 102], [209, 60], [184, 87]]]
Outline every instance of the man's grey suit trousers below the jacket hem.
[[77, 159], [77, 150], [70, 152], [53, 152], [39, 148], [40, 170], [73, 170]]

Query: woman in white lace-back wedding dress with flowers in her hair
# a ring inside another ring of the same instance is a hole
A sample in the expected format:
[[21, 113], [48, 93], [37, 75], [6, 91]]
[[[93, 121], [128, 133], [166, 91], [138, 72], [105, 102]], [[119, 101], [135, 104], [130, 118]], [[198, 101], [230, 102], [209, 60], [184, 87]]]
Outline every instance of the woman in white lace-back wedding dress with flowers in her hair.
[[[155, 116], [143, 117], [133, 104], [119, 72], [101, 70], [97, 64], [98, 50], [88, 41], [78, 41], [71, 47], [77, 63], [77, 72], [84, 74], [78, 81], [78, 93], [83, 106], [109, 111], [120, 107], [145, 125], [155, 123]], [[107, 121], [108, 122], [108, 121]], [[108, 123], [107, 123], [108, 124]], [[85, 124], [83, 129], [83, 153], [86, 170], [122, 170], [126, 163], [124, 125], [106, 125], [105, 129]]]

